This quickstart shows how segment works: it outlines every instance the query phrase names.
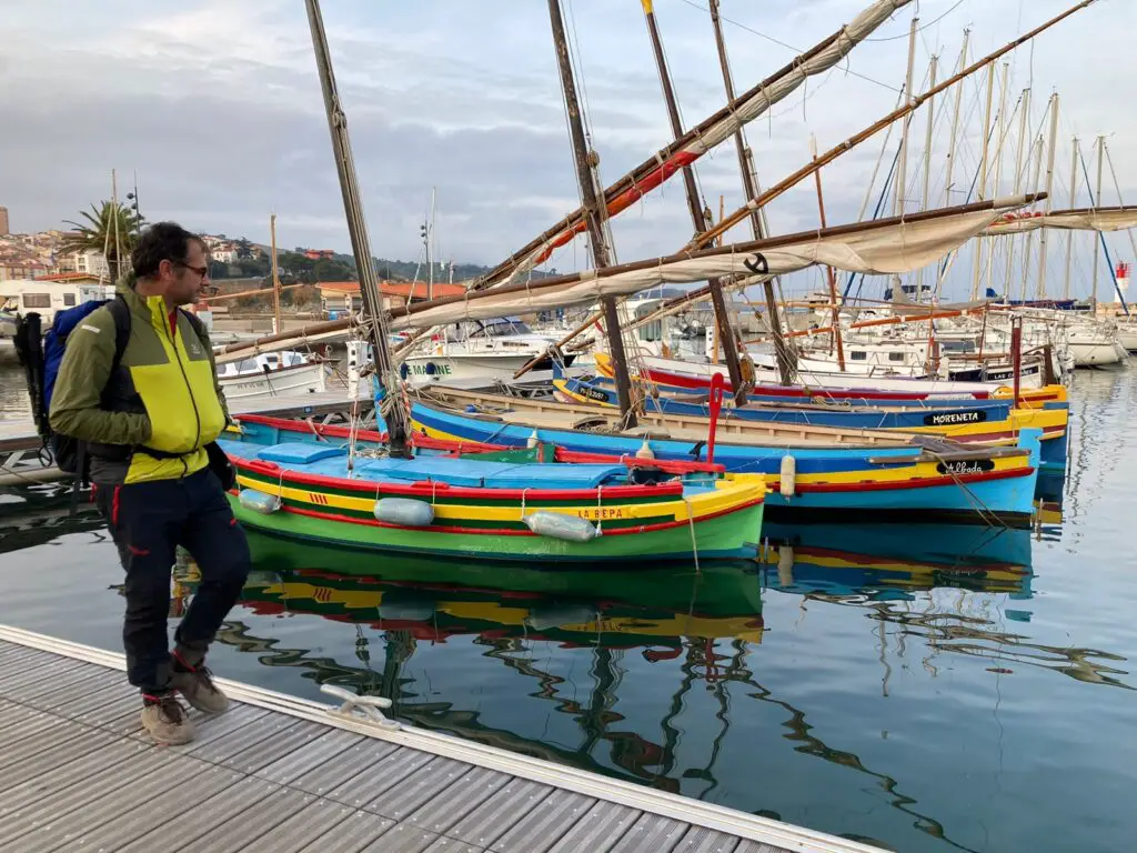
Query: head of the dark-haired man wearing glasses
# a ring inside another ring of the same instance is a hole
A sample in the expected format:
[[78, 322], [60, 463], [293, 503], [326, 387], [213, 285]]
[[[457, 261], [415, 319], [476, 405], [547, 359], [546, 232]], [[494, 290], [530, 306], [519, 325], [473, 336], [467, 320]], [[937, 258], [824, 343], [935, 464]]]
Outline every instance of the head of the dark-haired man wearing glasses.
[[205, 242], [174, 222], [158, 222], [143, 231], [131, 263], [140, 292], [165, 297], [171, 306], [198, 301], [209, 285]]

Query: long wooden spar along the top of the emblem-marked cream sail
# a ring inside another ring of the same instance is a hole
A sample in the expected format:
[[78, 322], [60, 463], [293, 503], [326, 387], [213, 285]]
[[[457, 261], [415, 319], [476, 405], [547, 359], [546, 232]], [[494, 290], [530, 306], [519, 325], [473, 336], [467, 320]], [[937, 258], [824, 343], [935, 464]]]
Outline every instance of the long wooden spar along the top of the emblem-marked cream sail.
[[[1028, 193], [1020, 196], [1014, 199], [1016, 205], [1029, 205], [1034, 201], [1040, 200], [1043, 193]], [[946, 207], [938, 210], [924, 210], [921, 213], [908, 214], [904, 217], [905, 223], [916, 223], [923, 222], [926, 220], [938, 220], [945, 216], [954, 216], [960, 214], [977, 213], [979, 210], [990, 210], [996, 206], [996, 202], [1003, 201], [1007, 204], [1007, 200], [990, 199], [988, 201], [976, 201], [970, 205], [958, 205], [956, 207]], [[416, 303], [414, 305], [396, 306], [388, 312], [392, 317], [408, 317], [416, 314], [421, 314], [425, 310], [437, 308], [443, 305], [454, 305], [457, 303], [476, 303], [482, 299], [489, 299], [498, 297], [505, 293], [525, 293], [540, 290], [547, 290], [549, 288], [563, 288], [566, 284], [576, 284], [584, 280], [600, 280], [617, 275], [625, 272], [634, 272], [640, 270], [650, 270], [653, 267], [659, 266], [661, 264], [671, 264], [679, 260], [691, 260], [696, 258], [714, 257], [717, 255], [739, 255], [749, 254], [754, 251], [765, 251], [769, 249], [775, 249], [781, 246], [788, 246], [792, 243], [800, 242], [803, 240], [823, 240], [830, 237], [840, 237], [843, 234], [855, 234], [862, 231], [874, 231], [878, 229], [893, 227], [899, 225], [902, 220], [896, 217], [889, 217], [887, 220], [870, 220], [869, 222], [856, 222], [848, 225], [835, 225], [833, 227], [820, 230], [820, 231], [804, 231], [796, 234], [786, 234], [781, 237], [766, 238], [764, 240], [752, 240], [741, 243], [730, 243], [723, 247], [716, 247], [713, 249], [703, 249], [702, 251], [679, 251], [674, 255], [667, 255], [659, 258], [647, 258], [644, 260], [633, 260], [625, 264], [616, 264], [604, 270], [587, 271], [583, 273], [570, 273], [567, 275], [555, 275], [547, 279], [533, 279], [532, 281], [514, 282], [513, 284], [503, 284], [501, 287], [495, 288], [492, 290], [478, 290], [473, 292], [465, 292], [460, 296], [448, 296], [440, 299], [435, 299], [432, 303]], [[339, 321], [337, 321], [339, 322]]]

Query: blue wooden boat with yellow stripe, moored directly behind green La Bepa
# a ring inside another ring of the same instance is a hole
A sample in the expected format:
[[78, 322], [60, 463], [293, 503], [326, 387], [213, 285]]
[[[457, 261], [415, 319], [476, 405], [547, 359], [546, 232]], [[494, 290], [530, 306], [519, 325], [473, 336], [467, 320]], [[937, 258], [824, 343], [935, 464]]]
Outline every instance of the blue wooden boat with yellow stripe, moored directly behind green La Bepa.
[[[663, 459], [706, 458], [700, 419], [648, 414], [645, 434], [619, 431], [619, 411], [542, 403], [450, 388], [412, 406], [424, 434], [524, 447], [540, 440], [568, 450]], [[581, 429], [587, 426], [589, 429]], [[594, 430], [605, 430], [594, 431]], [[1023, 430], [1018, 448], [966, 448], [902, 432], [836, 430], [735, 421], [719, 425], [714, 462], [728, 471], [763, 473], [767, 513], [849, 520], [953, 517], [1029, 523], [1037, 480], [1038, 430]]]

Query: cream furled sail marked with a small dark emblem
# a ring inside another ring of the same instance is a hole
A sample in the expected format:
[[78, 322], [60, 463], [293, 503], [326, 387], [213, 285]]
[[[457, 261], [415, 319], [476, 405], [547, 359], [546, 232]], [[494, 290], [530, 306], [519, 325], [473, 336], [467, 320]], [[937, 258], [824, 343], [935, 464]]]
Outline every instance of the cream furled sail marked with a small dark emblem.
[[813, 265], [870, 275], [906, 273], [935, 263], [999, 217], [1036, 198], [1019, 196], [981, 201], [467, 291], [463, 296], [396, 308], [391, 312], [391, 328], [447, 325], [463, 320], [591, 305], [605, 296], [629, 296], [661, 284], [708, 278], [752, 275], [754, 281], [764, 281]]

